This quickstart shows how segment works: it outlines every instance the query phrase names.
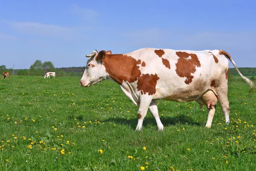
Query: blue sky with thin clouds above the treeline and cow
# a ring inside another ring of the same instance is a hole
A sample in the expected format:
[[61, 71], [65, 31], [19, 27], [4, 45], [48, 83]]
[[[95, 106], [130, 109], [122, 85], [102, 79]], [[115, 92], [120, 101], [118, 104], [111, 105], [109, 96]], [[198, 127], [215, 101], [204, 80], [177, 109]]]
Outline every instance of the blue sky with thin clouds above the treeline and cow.
[[[97, 50], [223, 49], [256, 67], [253, 0], [0, 0], [0, 65], [82, 67]], [[230, 67], [233, 65], [230, 63]]]

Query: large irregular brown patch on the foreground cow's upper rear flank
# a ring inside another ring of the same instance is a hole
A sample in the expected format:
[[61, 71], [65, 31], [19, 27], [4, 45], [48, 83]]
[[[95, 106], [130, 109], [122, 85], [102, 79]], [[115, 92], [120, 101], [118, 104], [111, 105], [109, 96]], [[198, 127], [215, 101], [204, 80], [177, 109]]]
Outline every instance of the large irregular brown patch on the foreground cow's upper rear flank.
[[[195, 73], [195, 67], [201, 67], [200, 61], [198, 60], [197, 55], [193, 53], [189, 54], [187, 52], [176, 52], [176, 55], [180, 57], [176, 64], [176, 73], [180, 77], [186, 77], [185, 83], [190, 84], [194, 78], [194, 76], [191, 74]], [[189, 56], [191, 59], [187, 59]]]

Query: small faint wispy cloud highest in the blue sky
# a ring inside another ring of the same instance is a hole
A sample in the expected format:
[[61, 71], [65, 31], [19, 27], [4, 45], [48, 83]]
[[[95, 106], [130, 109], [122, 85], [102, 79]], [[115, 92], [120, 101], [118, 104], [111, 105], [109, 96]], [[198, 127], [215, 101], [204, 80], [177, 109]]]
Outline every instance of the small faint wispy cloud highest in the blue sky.
[[99, 17], [99, 13], [93, 9], [81, 8], [77, 5], [71, 6], [71, 12], [76, 15], [80, 15], [83, 19], [92, 21]]

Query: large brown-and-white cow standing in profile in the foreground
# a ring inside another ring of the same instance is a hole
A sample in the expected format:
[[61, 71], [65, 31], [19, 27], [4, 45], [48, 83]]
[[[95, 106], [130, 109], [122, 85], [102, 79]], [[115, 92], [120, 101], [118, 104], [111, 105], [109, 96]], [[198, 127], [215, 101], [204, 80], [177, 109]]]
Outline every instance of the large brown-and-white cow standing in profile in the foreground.
[[93, 51], [87, 61], [80, 85], [89, 87], [109, 79], [118, 83], [122, 91], [139, 106], [136, 130], [141, 130], [148, 108], [158, 130], [163, 130], [156, 100], [197, 101], [207, 106], [206, 127], [212, 126], [217, 100], [229, 123], [227, 82], [229, 61], [250, 85], [253, 82], [241, 74], [231, 56], [224, 50], [172, 50], [143, 48], [126, 54]]

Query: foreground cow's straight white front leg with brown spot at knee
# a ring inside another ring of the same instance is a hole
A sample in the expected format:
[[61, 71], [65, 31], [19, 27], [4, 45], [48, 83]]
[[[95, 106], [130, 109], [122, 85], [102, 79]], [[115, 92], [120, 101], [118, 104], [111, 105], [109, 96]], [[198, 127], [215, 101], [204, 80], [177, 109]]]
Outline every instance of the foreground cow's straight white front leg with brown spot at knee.
[[140, 96], [140, 107], [138, 111], [138, 124], [136, 130], [141, 130], [143, 119], [145, 118], [149, 104], [151, 103], [152, 97], [148, 95], [141, 95]]

